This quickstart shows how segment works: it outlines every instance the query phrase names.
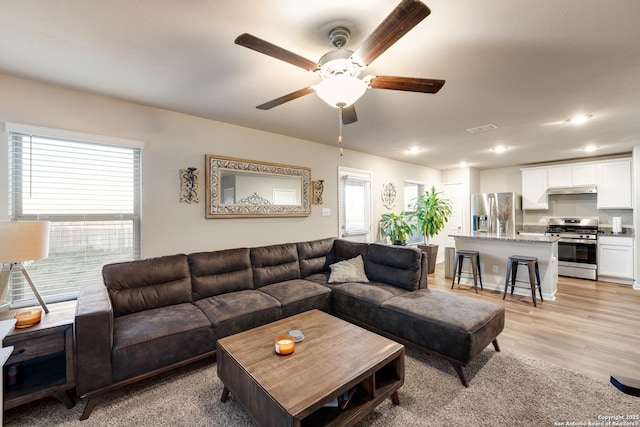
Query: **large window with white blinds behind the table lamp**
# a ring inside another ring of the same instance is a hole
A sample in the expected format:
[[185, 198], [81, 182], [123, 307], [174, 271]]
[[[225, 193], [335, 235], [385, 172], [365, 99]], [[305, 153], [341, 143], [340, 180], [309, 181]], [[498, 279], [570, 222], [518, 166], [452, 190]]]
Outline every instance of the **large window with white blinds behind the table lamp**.
[[[25, 263], [47, 302], [102, 281], [105, 264], [140, 257], [142, 143], [6, 124], [10, 217], [50, 221], [49, 256]], [[37, 303], [19, 271], [13, 307]]]

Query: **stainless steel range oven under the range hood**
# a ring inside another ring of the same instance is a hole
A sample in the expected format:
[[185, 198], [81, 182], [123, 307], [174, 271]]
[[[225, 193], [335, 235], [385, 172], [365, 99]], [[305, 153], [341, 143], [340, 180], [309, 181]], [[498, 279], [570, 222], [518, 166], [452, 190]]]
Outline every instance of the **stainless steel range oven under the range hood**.
[[558, 275], [598, 279], [598, 220], [551, 218], [547, 236], [558, 236]]

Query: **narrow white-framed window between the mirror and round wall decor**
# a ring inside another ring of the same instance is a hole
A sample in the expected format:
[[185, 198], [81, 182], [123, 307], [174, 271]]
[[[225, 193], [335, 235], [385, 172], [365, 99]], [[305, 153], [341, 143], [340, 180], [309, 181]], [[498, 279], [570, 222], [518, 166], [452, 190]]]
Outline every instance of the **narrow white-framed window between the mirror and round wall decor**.
[[368, 241], [371, 232], [371, 173], [340, 168], [338, 175], [341, 236]]

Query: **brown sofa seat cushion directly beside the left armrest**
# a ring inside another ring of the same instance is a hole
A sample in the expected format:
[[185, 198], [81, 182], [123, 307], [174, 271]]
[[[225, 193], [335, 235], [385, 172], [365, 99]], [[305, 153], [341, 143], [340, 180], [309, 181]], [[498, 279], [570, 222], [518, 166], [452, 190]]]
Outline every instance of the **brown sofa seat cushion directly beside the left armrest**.
[[213, 351], [211, 322], [191, 303], [139, 311], [113, 324], [114, 382]]

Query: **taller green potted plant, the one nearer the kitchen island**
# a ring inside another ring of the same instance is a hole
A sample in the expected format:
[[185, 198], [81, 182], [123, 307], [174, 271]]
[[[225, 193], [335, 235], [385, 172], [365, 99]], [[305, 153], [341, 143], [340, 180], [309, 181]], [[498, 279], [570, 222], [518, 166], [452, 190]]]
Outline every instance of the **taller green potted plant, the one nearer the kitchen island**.
[[429, 260], [429, 274], [436, 268], [438, 245], [430, 244], [429, 239], [438, 234], [444, 228], [451, 216], [451, 202], [440, 197], [442, 193], [436, 192], [436, 187], [431, 187], [431, 192], [426, 191], [418, 197], [414, 205], [414, 214], [417, 227], [425, 237], [425, 245], [418, 247], [427, 254]]

